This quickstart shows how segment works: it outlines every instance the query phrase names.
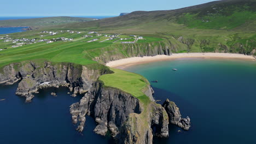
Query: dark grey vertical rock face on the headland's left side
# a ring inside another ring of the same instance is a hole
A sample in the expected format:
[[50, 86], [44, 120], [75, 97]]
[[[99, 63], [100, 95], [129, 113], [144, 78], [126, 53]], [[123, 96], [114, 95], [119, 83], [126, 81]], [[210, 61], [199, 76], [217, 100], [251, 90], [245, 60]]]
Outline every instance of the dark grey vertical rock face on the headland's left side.
[[140, 113], [140, 109], [139, 100], [132, 95], [96, 82], [80, 103], [71, 105], [70, 112], [73, 122], [79, 122], [78, 131], [83, 131], [85, 115], [91, 115], [98, 123], [97, 134], [106, 135], [109, 128], [115, 135], [116, 127], [123, 125], [130, 113]]

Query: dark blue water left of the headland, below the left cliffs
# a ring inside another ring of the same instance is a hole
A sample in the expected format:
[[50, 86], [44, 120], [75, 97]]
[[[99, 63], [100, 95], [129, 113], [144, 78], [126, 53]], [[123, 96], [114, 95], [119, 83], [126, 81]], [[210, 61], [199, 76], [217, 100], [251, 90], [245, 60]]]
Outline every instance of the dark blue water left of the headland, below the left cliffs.
[[[36, 94], [32, 103], [15, 95], [18, 84], [0, 85], [0, 143], [113, 143], [109, 137], [93, 132], [94, 119], [86, 118], [82, 134], [75, 130], [69, 113], [69, 106], [78, 102], [67, 94], [67, 88], [48, 88]], [[56, 92], [57, 97], [50, 95]]]

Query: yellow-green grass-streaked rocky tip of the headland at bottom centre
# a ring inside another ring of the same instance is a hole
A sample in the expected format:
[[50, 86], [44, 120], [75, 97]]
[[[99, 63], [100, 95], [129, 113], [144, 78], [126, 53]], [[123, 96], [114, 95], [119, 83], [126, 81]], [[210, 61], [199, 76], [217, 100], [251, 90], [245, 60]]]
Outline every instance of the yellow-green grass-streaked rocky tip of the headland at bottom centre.
[[152, 143], [153, 136], [168, 137], [168, 116], [161, 105], [151, 103], [141, 114], [131, 113], [121, 128], [120, 143]]

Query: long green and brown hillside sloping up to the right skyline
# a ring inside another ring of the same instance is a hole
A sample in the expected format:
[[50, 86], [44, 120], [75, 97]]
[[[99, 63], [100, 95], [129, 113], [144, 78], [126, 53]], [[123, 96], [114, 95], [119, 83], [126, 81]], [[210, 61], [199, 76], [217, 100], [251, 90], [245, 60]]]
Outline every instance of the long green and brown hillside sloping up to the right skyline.
[[214, 1], [176, 10], [135, 11], [124, 16], [53, 28], [123, 32], [148, 29], [150, 33], [172, 32], [177, 28], [177, 31], [180, 31], [183, 27], [255, 31], [255, 8], [255, 0]]

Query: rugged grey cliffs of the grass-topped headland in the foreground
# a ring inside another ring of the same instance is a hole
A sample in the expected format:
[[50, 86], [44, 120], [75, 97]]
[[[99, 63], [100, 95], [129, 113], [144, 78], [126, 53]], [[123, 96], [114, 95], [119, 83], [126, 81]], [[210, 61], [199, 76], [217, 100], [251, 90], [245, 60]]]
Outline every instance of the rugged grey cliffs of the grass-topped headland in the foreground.
[[[148, 87], [149, 101], [152, 89]], [[131, 94], [113, 87], [106, 87], [101, 81], [94, 83], [79, 103], [71, 105], [73, 123], [83, 131], [85, 116], [95, 118], [95, 133], [109, 132], [117, 143], [152, 143], [153, 135], [168, 136], [168, 116], [161, 105], [153, 101], [145, 105]], [[154, 130], [152, 129], [154, 128]]]

